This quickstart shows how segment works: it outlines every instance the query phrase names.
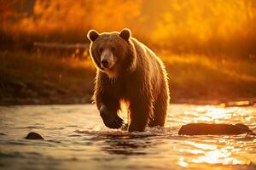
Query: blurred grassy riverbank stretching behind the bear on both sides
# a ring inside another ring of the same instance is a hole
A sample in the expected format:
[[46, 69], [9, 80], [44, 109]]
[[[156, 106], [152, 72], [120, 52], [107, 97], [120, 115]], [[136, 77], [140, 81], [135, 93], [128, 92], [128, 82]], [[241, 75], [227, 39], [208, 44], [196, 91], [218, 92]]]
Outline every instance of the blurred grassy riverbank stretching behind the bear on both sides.
[[[168, 72], [171, 103], [256, 101], [254, 59], [168, 53], [160, 56]], [[0, 105], [91, 102], [96, 70], [90, 58], [1, 51], [0, 63]]]

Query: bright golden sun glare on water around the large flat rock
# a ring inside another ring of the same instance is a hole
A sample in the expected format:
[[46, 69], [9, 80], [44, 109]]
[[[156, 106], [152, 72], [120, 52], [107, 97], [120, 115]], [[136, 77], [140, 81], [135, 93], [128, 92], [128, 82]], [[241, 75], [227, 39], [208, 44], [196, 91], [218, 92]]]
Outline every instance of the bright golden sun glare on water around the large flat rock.
[[[255, 110], [247, 110], [241, 107], [224, 108], [222, 106], [197, 106], [191, 110], [183, 112], [184, 123], [191, 122], [208, 122], [208, 123], [229, 123], [236, 124], [238, 122], [252, 122], [255, 127]], [[247, 123], [246, 123], [247, 124]], [[170, 124], [172, 126], [172, 124]], [[254, 128], [255, 129], [255, 128]], [[197, 136], [196, 138], [200, 138]], [[206, 137], [204, 137], [206, 138]], [[200, 167], [202, 164], [212, 165], [250, 165], [252, 161], [248, 159], [247, 150], [255, 152], [256, 140], [253, 138], [253, 148], [247, 148], [247, 140], [251, 137], [244, 135], [244, 139], [239, 137], [232, 138], [230, 136], [221, 136], [212, 139], [204, 139], [196, 141], [186, 141], [183, 144], [189, 148], [181, 148], [178, 151], [181, 155], [177, 164], [180, 167]], [[243, 141], [244, 140], [244, 141]]]

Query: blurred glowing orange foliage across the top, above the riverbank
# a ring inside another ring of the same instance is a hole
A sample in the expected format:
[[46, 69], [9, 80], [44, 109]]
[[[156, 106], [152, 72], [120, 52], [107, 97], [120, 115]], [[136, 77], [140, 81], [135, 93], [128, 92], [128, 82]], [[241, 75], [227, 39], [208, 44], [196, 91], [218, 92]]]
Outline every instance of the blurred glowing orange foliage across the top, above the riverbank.
[[84, 42], [92, 28], [129, 27], [151, 48], [177, 54], [256, 54], [254, 0], [3, 0], [0, 11], [5, 48], [14, 43], [29, 48], [33, 41]]

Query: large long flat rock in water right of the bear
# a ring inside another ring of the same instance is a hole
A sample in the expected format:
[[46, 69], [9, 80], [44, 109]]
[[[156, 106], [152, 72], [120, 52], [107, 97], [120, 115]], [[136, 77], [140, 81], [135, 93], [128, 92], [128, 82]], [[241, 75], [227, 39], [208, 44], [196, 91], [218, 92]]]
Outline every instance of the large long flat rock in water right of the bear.
[[189, 123], [183, 125], [179, 131], [179, 135], [225, 135], [225, 134], [242, 134], [250, 133], [253, 131], [244, 124], [207, 124], [207, 123]]

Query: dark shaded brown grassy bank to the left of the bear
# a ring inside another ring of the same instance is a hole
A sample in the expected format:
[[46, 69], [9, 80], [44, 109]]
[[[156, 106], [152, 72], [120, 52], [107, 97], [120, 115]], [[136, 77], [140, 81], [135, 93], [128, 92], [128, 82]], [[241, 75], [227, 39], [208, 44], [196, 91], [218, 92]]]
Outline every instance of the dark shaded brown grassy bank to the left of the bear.
[[25, 51], [0, 54], [0, 104], [90, 102], [95, 71], [76, 58]]

